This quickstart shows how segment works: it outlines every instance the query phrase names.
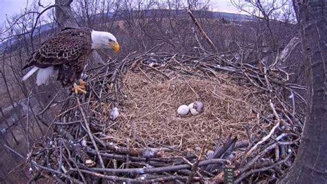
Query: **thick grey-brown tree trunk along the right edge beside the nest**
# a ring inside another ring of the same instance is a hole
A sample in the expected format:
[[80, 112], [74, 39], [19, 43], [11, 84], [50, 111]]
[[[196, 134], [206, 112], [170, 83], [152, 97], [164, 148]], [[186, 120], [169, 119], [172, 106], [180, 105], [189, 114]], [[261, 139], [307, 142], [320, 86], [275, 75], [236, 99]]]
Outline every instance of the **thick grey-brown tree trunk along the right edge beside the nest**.
[[293, 1], [310, 91], [301, 145], [283, 182], [327, 183], [327, 0]]

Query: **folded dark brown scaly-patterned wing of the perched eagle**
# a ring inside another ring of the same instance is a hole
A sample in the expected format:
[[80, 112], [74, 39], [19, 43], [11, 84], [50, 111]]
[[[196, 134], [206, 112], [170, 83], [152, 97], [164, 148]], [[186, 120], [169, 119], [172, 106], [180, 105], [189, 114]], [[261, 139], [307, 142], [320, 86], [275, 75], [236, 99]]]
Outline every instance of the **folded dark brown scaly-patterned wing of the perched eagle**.
[[[28, 66], [46, 68], [68, 62], [78, 61], [81, 55], [90, 53], [92, 46], [90, 30], [79, 28], [66, 28], [60, 33], [44, 42], [30, 59]], [[73, 64], [72, 64], [73, 65]]]

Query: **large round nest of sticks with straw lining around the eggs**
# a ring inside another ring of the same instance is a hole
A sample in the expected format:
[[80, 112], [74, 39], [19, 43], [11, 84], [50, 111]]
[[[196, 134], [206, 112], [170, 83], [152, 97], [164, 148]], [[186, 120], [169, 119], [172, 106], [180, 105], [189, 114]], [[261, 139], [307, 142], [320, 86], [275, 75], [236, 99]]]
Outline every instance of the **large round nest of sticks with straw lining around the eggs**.
[[[293, 89], [304, 88], [289, 84], [276, 64], [257, 68], [229, 57], [133, 54], [88, 70], [88, 94], [70, 96], [54, 134], [35, 144], [33, 175], [222, 182], [232, 167], [235, 182], [276, 181], [296, 155], [304, 119], [296, 102], [305, 101]], [[204, 113], [177, 114], [195, 100]]]

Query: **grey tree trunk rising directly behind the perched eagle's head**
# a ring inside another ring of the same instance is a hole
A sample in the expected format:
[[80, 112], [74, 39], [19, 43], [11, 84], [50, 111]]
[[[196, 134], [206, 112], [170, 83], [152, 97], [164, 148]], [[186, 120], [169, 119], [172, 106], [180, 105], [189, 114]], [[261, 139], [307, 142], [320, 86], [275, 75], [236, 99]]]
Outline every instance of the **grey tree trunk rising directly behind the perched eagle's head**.
[[[56, 22], [59, 29], [63, 28], [79, 28], [77, 21], [75, 20], [74, 15], [72, 15], [72, 10], [70, 9], [70, 4], [73, 0], [55, 0], [54, 2], [57, 5], [56, 7]], [[96, 51], [92, 52], [92, 55], [89, 57], [90, 67], [97, 66], [98, 64], [104, 64], [103, 60]]]

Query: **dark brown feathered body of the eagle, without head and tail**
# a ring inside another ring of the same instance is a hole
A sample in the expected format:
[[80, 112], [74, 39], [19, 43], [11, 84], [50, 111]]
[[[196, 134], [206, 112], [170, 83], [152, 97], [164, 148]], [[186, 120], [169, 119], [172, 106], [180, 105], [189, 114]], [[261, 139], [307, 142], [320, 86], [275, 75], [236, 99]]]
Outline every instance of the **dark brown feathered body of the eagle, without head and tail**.
[[71, 85], [81, 77], [89, 55], [92, 53], [91, 31], [88, 28], [65, 28], [46, 40], [23, 67], [53, 66], [58, 71], [57, 80], [63, 86]]

